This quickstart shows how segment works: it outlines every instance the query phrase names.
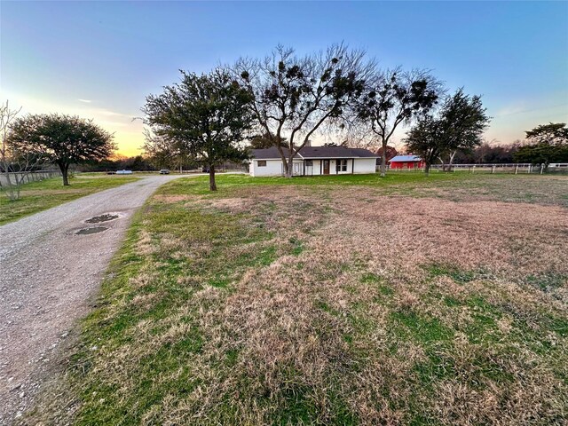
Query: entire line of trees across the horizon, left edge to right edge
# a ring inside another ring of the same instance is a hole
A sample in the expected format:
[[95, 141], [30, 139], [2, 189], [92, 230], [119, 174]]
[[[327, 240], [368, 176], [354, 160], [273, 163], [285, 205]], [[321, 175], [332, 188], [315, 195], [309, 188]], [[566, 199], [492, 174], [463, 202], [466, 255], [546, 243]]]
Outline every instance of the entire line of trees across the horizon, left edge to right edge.
[[[480, 95], [463, 88], [448, 93], [428, 69], [378, 67], [365, 51], [343, 43], [304, 55], [277, 46], [264, 58], [241, 58], [203, 74], [181, 71], [180, 77], [148, 95], [141, 108], [146, 157], [154, 164], [203, 166], [212, 191], [216, 166], [248, 159], [250, 146], [274, 146], [285, 176], [292, 177], [297, 152], [318, 134], [378, 146], [381, 176], [392, 135], [401, 126], [409, 129], [406, 151], [422, 157], [426, 173], [437, 162], [451, 166], [499, 151], [483, 144], [491, 117]], [[59, 166], [68, 185], [71, 164], [100, 166], [115, 149], [113, 135], [90, 120], [59, 114], [6, 117], [4, 170], [10, 169], [8, 159], [43, 158]], [[528, 144], [503, 148], [501, 156], [545, 165], [568, 161], [566, 132], [564, 123], [541, 125], [526, 132]]]

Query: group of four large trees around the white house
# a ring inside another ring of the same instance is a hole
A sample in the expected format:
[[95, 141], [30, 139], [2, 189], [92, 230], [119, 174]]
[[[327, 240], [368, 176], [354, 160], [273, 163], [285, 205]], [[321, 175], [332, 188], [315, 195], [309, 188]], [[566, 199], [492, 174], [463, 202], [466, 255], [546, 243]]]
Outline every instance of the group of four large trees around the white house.
[[206, 164], [212, 191], [215, 164], [247, 158], [247, 139], [274, 146], [292, 177], [294, 157], [318, 133], [362, 134], [380, 141], [384, 176], [399, 126], [414, 123], [406, 144], [430, 165], [480, 144], [489, 122], [479, 96], [462, 89], [446, 95], [429, 70], [381, 69], [365, 51], [344, 44], [305, 55], [278, 46], [264, 58], [241, 58], [209, 74], [182, 72], [179, 83], [146, 98], [143, 112], [146, 152]]

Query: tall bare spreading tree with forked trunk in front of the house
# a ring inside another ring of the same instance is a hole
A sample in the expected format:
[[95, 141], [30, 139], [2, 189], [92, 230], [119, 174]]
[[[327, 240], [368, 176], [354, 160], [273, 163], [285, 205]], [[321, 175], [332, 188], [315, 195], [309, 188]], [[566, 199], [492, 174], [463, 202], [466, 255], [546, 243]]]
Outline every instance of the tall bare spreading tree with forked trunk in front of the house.
[[[373, 70], [364, 51], [344, 44], [302, 57], [278, 46], [264, 59], [239, 59], [234, 66], [253, 96], [250, 107], [258, 130], [278, 148], [287, 177], [296, 153], [361, 96]], [[283, 140], [288, 149], [281, 146]]]

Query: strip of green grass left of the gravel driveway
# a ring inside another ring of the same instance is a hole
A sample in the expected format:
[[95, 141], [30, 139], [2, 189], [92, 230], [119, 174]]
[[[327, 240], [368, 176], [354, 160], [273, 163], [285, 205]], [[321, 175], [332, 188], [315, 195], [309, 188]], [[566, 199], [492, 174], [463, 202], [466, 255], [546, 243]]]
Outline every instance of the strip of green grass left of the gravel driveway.
[[20, 200], [17, 201], [9, 201], [5, 193], [0, 191], [0, 225], [136, 180], [138, 177], [85, 173], [75, 175], [69, 181], [71, 185], [63, 186], [61, 177], [52, 177], [41, 182], [23, 185]]

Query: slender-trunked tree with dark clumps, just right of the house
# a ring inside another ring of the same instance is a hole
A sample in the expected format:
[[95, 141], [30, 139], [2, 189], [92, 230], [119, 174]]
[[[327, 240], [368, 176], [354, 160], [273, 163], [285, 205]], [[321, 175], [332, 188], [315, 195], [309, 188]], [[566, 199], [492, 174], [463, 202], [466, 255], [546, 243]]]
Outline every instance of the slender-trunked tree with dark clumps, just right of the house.
[[356, 106], [356, 115], [359, 122], [370, 127], [380, 139], [381, 176], [386, 173], [385, 154], [394, 131], [400, 124], [430, 111], [442, 92], [442, 83], [423, 69], [386, 69], [367, 82]]

